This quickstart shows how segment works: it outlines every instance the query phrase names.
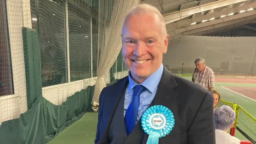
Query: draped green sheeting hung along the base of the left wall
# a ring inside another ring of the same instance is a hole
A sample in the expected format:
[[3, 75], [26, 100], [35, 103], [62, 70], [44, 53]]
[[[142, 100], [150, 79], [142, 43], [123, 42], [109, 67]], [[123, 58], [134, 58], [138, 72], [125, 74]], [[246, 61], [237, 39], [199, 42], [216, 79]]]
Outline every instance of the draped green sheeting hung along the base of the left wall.
[[0, 144], [46, 144], [91, 111], [94, 86], [76, 92], [56, 106], [40, 98], [20, 118], [0, 125]]

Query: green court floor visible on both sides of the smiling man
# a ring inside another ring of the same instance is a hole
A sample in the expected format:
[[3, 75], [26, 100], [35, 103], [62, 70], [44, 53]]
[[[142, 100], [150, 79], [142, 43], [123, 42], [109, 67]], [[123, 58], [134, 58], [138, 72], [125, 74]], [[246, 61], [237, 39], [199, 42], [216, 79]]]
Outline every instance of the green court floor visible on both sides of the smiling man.
[[[183, 77], [191, 80], [190, 76]], [[256, 87], [256, 84], [241, 84], [241, 83], [224, 83], [216, 82], [215, 89], [218, 90], [223, 100], [233, 102], [242, 106], [252, 116], [256, 117], [256, 101], [246, 98], [240, 94], [232, 92], [224, 86], [235, 87]], [[48, 144], [94, 144], [94, 138], [96, 134], [96, 126], [98, 121], [98, 113], [91, 112], [86, 113], [84, 117], [78, 122], [72, 124], [66, 130], [61, 132]], [[236, 137], [240, 140], [247, 140], [242, 134], [236, 131]]]

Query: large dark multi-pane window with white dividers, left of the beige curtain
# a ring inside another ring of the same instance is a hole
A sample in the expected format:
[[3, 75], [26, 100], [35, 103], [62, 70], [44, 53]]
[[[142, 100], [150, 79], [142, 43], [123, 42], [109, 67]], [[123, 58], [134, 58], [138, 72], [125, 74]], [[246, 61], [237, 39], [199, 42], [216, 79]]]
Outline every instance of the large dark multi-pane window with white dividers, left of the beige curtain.
[[39, 18], [34, 3], [30, 0], [32, 28], [39, 23], [40, 30], [42, 86], [97, 76], [98, 0], [39, 0]]

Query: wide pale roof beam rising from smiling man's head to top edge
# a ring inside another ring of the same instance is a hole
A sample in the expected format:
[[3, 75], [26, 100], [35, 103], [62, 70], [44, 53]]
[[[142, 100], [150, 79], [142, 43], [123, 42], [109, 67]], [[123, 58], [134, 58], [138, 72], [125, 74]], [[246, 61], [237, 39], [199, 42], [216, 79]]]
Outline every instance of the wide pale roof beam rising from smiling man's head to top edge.
[[230, 4], [236, 4], [238, 2], [244, 2], [244, 1], [246, 1], [246, 0], [218, 0], [215, 2], [208, 3], [208, 4], [195, 6], [193, 8], [180, 10], [178, 12], [172, 12], [170, 14], [165, 14], [164, 21], [165, 21], [165, 24], [170, 24], [172, 22], [175, 22], [175, 21], [185, 18], [187, 16], [191, 16], [192, 14], [196, 14], [199, 12], [204, 12], [207, 10], [212, 10], [214, 8], [220, 8], [222, 6], [228, 6]]

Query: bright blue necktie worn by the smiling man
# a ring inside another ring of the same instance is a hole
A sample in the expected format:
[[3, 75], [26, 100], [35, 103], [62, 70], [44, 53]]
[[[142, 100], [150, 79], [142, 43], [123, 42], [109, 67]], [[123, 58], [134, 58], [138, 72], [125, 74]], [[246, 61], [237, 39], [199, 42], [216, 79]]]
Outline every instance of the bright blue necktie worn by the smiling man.
[[140, 94], [145, 90], [145, 87], [142, 85], [137, 85], [134, 88], [134, 92], [132, 95], [132, 102], [126, 110], [126, 114], [124, 117], [124, 123], [126, 128], [126, 133], [129, 134], [132, 132], [138, 115], [138, 109], [140, 106]]

